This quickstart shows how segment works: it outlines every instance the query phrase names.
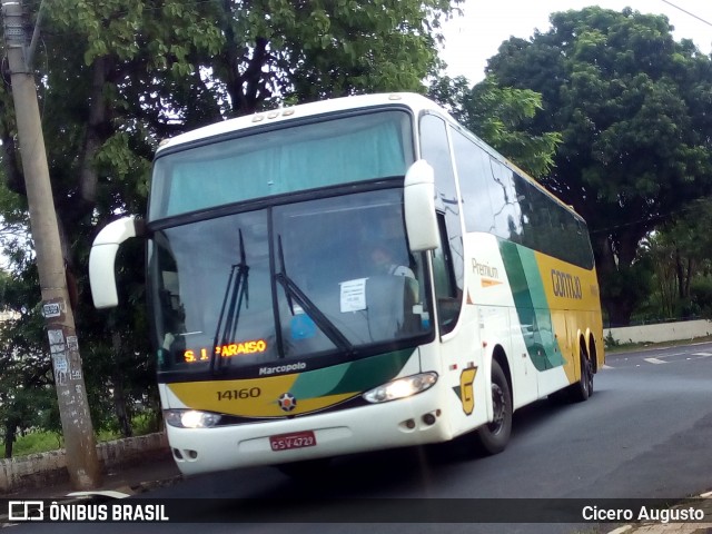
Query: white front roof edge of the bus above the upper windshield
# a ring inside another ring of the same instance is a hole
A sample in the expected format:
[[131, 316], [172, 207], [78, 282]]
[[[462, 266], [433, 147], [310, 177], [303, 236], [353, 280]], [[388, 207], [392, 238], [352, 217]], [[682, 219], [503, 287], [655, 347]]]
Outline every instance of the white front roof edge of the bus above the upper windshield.
[[197, 128], [195, 130], [178, 135], [161, 141], [157, 155], [170, 147], [176, 147], [186, 142], [198, 141], [231, 131], [238, 131], [265, 123], [283, 122], [297, 118], [315, 117], [319, 115], [333, 113], [335, 111], [348, 111], [354, 109], [373, 108], [388, 105], [402, 105], [411, 108], [416, 113], [422, 110], [436, 110], [443, 115], [448, 115], [441, 106], [426, 97], [413, 92], [390, 92], [376, 95], [360, 95], [354, 97], [334, 98], [318, 102], [301, 103], [287, 108], [278, 108], [259, 113], [224, 120], [214, 125]]

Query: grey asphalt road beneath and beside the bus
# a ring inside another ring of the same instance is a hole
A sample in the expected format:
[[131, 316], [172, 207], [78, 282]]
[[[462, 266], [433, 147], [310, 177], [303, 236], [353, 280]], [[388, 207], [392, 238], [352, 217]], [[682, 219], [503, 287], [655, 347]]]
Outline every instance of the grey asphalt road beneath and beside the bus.
[[[515, 414], [512, 442], [492, 457], [468, 444], [340, 458], [328, 476], [295, 482], [271, 468], [204, 475], [150, 498], [678, 498], [712, 488], [712, 344], [613, 354], [582, 404], [536, 403]], [[455, 502], [455, 501], [453, 501]], [[190, 506], [191, 501], [185, 501]], [[427, 501], [423, 501], [427, 504]], [[514, 508], [516, 501], [508, 501]], [[344, 517], [348, 517], [345, 515]], [[21, 525], [21, 532], [95, 532], [97, 525]], [[101, 532], [402, 533], [402, 524], [105, 524]], [[611, 526], [602, 527], [607, 532]], [[591, 525], [411, 524], [419, 532], [596, 532]]]

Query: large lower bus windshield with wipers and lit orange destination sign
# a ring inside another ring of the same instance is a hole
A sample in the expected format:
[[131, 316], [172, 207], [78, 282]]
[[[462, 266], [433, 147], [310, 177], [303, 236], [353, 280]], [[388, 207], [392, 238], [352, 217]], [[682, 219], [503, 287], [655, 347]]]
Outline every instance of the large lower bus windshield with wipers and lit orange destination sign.
[[160, 370], [312, 368], [415, 346], [432, 332], [400, 188], [238, 212], [152, 237]]

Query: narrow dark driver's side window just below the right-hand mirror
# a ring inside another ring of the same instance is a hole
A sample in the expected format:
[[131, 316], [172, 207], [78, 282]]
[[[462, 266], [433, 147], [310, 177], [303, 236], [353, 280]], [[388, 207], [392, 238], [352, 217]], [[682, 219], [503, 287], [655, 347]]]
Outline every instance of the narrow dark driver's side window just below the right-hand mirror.
[[455, 283], [453, 256], [449, 250], [445, 230], [445, 217], [437, 215], [441, 229], [441, 246], [433, 250], [433, 281], [435, 284], [435, 299], [441, 334], [447, 334], [455, 328], [459, 315], [459, 298]]

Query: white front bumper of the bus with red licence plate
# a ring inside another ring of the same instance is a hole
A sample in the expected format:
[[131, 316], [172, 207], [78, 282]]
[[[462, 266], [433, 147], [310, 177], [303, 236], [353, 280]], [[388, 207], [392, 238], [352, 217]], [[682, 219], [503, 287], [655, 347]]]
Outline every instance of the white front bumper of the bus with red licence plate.
[[212, 428], [167, 425], [168, 442], [186, 475], [438, 443], [452, 436], [436, 393], [433, 388], [409, 398], [294, 419]]

